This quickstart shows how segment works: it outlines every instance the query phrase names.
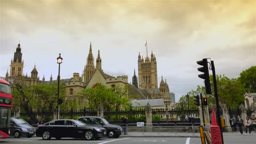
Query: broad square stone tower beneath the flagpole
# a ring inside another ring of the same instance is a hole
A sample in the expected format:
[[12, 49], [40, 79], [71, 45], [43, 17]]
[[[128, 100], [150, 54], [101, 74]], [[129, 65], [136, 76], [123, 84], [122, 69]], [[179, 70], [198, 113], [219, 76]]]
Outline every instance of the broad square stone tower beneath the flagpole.
[[157, 61], [153, 51], [151, 59], [149, 56], [145, 57], [145, 61], [138, 56], [138, 73], [139, 73], [139, 87], [140, 88], [157, 88]]

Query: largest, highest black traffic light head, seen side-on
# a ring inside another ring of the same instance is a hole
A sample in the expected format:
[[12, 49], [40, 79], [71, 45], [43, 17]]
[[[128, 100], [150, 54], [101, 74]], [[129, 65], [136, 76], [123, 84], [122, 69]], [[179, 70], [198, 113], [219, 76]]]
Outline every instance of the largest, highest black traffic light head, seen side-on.
[[204, 73], [204, 74], [198, 75], [198, 77], [205, 80], [206, 93], [212, 94], [207, 59], [203, 59], [202, 61], [197, 61], [197, 64], [203, 66], [203, 67], [197, 68], [197, 70]]

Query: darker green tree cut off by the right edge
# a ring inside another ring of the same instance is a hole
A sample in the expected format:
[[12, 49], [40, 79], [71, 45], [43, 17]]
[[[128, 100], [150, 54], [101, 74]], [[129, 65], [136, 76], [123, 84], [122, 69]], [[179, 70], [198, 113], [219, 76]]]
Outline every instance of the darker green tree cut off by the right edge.
[[245, 69], [240, 73], [238, 80], [244, 84], [246, 90], [250, 90], [251, 93], [256, 92], [256, 66], [252, 66], [249, 69]]

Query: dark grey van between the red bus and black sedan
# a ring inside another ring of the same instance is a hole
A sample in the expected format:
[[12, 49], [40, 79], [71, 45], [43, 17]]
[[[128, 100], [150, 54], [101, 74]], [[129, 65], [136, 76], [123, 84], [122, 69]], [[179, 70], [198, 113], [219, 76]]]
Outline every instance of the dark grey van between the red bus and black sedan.
[[35, 135], [35, 128], [32, 125], [29, 125], [25, 120], [19, 117], [12, 117], [10, 123], [10, 135], [15, 138], [20, 136], [27, 136], [31, 138]]

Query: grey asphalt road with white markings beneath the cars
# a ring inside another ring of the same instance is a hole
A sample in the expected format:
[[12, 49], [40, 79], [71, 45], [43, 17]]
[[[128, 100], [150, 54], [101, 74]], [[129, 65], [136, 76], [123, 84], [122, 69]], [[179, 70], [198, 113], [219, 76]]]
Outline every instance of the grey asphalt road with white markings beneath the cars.
[[[240, 135], [240, 133], [224, 133], [224, 144], [255, 144], [256, 133]], [[52, 138], [44, 141], [40, 137], [22, 137], [19, 139], [0, 139], [0, 144], [201, 144], [200, 137], [120, 137], [118, 139], [102, 138], [85, 141], [84, 139], [65, 138], [56, 140]]]

